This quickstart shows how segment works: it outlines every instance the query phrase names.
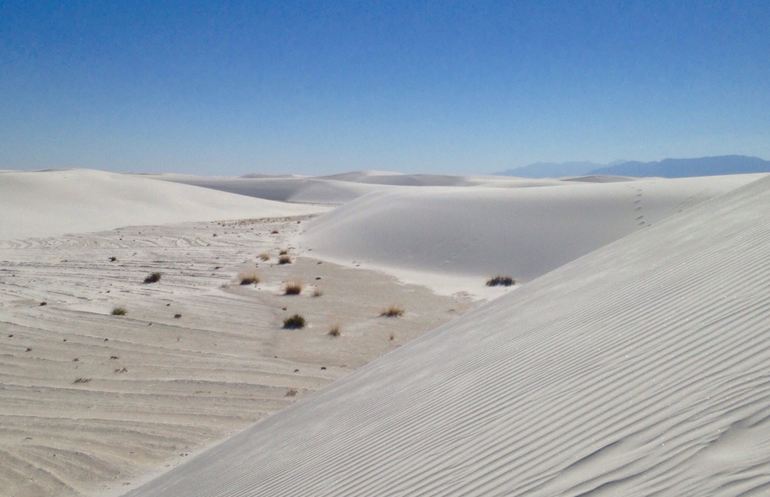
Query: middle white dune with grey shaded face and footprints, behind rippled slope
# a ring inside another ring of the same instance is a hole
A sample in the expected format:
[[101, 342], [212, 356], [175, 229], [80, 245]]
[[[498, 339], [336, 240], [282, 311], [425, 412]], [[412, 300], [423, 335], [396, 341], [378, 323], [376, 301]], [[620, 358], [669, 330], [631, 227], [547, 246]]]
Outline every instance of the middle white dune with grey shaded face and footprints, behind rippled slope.
[[503, 273], [530, 280], [759, 177], [400, 188], [317, 218], [302, 243], [340, 263], [355, 261], [456, 291], [462, 284], [453, 285], [452, 276]]

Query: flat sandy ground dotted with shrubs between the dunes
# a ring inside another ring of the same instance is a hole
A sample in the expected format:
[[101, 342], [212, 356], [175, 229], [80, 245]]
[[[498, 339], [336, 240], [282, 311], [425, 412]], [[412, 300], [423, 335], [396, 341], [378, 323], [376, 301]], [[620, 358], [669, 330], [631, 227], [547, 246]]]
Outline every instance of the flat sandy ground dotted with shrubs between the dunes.
[[[0, 495], [120, 493], [471, 306], [313, 259], [291, 246], [306, 222], [0, 242]], [[304, 291], [283, 295], [293, 280]], [[390, 304], [403, 317], [380, 317]], [[309, 326], [282, 329], [294, 313]]]

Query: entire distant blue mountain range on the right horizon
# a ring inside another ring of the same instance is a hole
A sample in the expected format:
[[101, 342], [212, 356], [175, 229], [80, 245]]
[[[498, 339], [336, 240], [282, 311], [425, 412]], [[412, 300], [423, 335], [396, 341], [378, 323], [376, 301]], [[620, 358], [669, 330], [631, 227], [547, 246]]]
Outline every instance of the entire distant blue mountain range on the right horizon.
[[618, 161], [610, 164], [593, 162], [536, 162], [502, 171], [500, 175], [523, 178], [557, 178], [562, 176], [716, 176], [770, 172], [770, 161], [746, 155], [722, 155], [694, 159], [663, 159], [654, 162]]

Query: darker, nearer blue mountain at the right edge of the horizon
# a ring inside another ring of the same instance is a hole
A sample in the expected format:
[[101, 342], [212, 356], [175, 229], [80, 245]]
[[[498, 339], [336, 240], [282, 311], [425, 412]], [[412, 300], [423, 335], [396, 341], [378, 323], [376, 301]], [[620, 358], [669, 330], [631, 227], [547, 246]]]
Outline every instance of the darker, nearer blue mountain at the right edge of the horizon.
[[589, 171], [588, 174], [609, 176], [715, 176], [770, 172], [770, 161], [746, 155], [722, 155], [695, 159], [663, 159], [655, 162], [622, 162]]

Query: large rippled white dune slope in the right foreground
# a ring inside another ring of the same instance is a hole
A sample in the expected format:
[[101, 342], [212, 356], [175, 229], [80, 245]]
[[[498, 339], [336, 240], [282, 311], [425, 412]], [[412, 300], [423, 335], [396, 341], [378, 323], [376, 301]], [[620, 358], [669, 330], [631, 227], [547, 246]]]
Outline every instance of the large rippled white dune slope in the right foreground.
[[765, 178], [538, 278], [128, 495], [768, 495], [768, 329]]

